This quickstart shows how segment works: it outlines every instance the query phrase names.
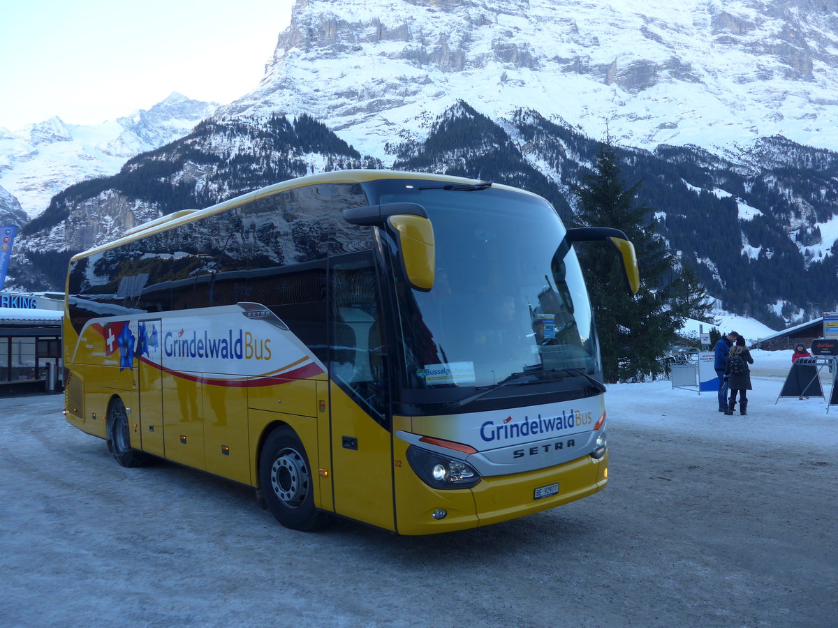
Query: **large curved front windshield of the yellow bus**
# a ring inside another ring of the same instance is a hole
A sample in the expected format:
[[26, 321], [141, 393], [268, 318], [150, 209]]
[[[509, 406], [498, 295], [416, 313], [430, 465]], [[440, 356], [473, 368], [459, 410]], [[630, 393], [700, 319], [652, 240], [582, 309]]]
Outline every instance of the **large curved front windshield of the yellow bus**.
[[422, 204], [436, 239], [432, 290], [399, 295], [406, 389], [473, 391], [601, 372], [582, 271], [546, 200], [416, 180], [378, 186], [379, 203]]

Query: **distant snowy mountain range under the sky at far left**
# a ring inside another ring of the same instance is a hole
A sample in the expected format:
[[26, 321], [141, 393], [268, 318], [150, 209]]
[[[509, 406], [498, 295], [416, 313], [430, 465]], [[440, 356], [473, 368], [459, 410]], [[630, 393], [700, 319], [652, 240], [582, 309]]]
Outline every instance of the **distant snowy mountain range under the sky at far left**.
[[0, 186], [33, 218], [54, 194], [119, 172], [129, 157], [186, 135], [217, 107], [175, 92], [148, 111], [97, 125], [67, 125], [53, 117], [16, 132], [0, 128]]

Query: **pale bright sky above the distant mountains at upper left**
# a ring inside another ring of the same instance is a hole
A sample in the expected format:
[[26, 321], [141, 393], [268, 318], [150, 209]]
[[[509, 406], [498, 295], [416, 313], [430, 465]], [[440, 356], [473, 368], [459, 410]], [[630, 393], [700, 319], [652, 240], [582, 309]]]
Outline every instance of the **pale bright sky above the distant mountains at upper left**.
[[98, 124], [173, 91], [221, 104], [252, 90], [293, 0], [9, 0], [0, 126]]

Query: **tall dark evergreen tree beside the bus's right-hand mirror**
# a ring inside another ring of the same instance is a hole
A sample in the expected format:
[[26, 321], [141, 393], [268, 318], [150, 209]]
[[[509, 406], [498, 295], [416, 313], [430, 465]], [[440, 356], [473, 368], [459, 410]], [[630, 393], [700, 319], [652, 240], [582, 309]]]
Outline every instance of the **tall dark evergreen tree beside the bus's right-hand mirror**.
[[706, 320], [710, 313], [696, 273], [655, 233], [654, 210], [635, 203], [640, 185], [625, 188], [617, 149], [607, 140], [597, 152], [594, 172], [583, 175], [574, 190], [579, 199], [575, 226], [621, 229], [638, 256], [640, 289], [629, 296], [613, 250], [577, 246], [597, 321], [603, 377], [609, 383], [663, 373], [657, 358], [676, 342], [685, 318]]

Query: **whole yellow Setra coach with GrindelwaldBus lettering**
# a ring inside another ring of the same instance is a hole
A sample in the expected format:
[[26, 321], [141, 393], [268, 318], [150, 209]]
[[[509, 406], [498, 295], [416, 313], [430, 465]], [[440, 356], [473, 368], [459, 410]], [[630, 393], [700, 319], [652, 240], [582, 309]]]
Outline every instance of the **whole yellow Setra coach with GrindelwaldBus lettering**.
[[252, 486], [288, 528], [441, 533], [605, 486], [602, 367], [544, 198], [328, 172], [129, 229], [70, 261], [65, 416], [122, 466]]

